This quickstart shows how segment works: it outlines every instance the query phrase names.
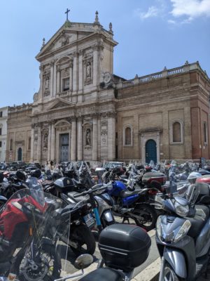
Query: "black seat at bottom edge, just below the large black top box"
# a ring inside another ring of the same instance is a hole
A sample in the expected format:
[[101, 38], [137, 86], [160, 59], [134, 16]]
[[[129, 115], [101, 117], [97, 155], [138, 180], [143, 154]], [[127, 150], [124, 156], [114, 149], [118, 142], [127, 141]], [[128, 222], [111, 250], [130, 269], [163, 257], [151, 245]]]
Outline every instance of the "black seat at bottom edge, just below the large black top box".
[[111, 268], [98, 268], [93, 270], [91, 273], [88, 273], [79, 281], [123, 281], [123, 275], [120, 274], [117, 270]]

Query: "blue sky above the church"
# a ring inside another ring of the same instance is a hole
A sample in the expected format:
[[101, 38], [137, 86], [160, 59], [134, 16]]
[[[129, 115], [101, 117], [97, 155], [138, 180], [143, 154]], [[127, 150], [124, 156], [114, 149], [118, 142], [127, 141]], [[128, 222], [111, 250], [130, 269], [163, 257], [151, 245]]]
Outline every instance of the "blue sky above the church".
[[1, 0], [0, 107], [31, 103], [39, 88], [35, 55], [64, 24], [113, 24], [114, 73], [134, 78], [197, 60], [210, 77], [210, 0]]

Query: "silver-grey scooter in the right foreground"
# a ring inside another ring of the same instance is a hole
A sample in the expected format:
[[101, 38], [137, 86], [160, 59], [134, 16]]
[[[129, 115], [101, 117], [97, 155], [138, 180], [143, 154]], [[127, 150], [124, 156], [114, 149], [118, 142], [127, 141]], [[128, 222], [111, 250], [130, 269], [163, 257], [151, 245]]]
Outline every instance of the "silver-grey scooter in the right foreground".
[[157, 196], [155, 202], [166, 212], [156, 224], [156, 243], [162, 259], [159, 281], [196, 280], [207, 273], [209, 264], [209, 186], [189, 185], [185, 197], [162, 200]]

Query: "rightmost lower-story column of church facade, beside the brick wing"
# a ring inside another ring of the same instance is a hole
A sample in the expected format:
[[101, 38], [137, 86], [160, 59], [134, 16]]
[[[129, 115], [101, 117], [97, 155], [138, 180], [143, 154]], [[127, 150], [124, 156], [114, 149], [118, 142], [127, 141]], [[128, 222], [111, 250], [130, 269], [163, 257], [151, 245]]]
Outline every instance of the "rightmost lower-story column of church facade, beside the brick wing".
[[108, 159], [116, 158], [116, 114], [111, 113], [108, 117]]

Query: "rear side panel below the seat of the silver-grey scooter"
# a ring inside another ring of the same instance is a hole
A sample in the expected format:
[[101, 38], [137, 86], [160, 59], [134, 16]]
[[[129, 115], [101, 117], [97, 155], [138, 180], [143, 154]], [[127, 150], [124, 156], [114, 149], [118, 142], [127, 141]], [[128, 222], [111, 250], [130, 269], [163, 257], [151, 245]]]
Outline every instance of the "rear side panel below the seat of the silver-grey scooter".
[[210, 218], [202, 228], [195, 244], [196, 257], [204, 256], [208, 253], [210, 247]]

